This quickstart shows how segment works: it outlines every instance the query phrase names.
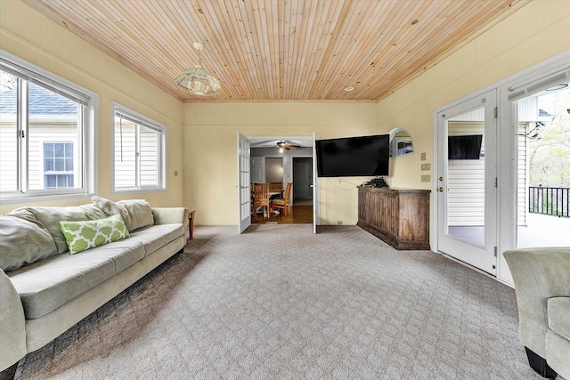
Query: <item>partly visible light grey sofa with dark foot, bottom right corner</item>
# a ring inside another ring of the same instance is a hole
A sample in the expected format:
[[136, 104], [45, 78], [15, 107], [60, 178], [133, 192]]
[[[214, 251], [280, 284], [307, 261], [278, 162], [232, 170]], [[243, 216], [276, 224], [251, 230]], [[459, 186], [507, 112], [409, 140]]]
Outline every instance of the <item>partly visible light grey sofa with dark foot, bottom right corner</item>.
[[504, 256], [531, 368], [542, 377], [570, 379], [570, 247], [514, 249]]

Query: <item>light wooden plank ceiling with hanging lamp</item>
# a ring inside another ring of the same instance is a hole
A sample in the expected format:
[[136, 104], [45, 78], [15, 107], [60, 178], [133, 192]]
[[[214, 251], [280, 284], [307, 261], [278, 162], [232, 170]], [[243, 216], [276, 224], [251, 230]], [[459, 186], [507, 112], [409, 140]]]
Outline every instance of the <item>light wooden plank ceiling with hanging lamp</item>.
[[[526, 2], [24, 1], [181, 101], [378, 101]], [[221, 93], [176, 87], [194, 42]]]

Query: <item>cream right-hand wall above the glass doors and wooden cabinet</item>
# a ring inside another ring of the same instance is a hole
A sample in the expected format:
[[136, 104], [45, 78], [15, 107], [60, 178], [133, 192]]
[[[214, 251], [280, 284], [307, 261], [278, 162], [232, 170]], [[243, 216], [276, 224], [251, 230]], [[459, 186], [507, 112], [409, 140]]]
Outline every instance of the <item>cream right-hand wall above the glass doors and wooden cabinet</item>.
[[[434, 167], [434, 110], [566, 49], [570, 49], [570, 1], [534, 0], [379, 101], [379, 129], [401, 125], [414, 144], [413, 155], [396, 160], [392, 184], [431, 188], [431, 183], [420, 181], [427, 174], [420, 165]], [[426, 161], [420, 161], [420, 152], [427, 153]]]

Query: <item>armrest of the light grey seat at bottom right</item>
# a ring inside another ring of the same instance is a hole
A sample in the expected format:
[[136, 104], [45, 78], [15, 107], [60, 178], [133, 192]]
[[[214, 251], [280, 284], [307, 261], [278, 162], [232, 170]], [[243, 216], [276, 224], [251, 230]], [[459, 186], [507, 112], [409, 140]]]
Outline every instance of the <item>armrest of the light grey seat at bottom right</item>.
[[504, 256], [515, 282], [521, 342], [544, 358], [547, 302], [570, 296], [570, 247], [513, 249]]

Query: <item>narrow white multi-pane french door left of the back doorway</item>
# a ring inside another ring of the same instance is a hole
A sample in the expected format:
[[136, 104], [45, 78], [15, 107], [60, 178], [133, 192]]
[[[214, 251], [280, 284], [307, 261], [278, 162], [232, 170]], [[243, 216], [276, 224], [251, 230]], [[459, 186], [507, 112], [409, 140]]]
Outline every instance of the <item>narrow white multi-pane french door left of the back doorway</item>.
[[240, 233], [251, 225], [251, 190], [249, 190], [249, 139], [238, 132], [238, 197], [240, 198]]

